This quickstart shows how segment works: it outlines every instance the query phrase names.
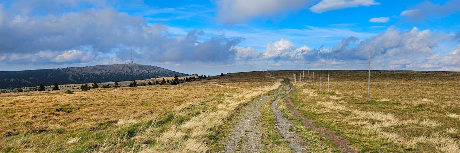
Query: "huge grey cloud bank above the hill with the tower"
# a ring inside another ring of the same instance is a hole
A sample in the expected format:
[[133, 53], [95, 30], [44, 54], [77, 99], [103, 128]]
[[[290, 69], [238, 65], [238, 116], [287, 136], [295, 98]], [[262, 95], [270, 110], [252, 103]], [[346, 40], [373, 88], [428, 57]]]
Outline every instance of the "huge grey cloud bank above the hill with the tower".
[[[224, 35], [207, 35], [208, 39], [203, 39], [204, 32], [198, 30], [173, 36], [174, 33], [162, 24], [147, 24], [144, 17], [118, 12], [113, 7], [37, 15], [29, 13], [38, 9], [35, 6], [17, 9], [22, 2], [0, 10], [3, 18], [0, 24], [0, 56], [14, 53], [48, 59], [48, 62], [87, 62], [82, 61], [89, 59], [86, 57], [66, 57], [83, 52], [81, 54], [98, 53], [92, 55], [112, 55], [116, 57], [111, 58], [127, 60], [132, 47], [137, 62], [227, 63], [236, 56], [236, 51], [230, 48], [243, 40]], [[51, 4], [58, 3], [56, 6], [60, 6], [60, 2], [50, 1]], [[59, 53], [53, 54], [53, 58], [44, 58], [43, 51]], [[21, 63], [27, 62], [34, 61], [24, 60]]]

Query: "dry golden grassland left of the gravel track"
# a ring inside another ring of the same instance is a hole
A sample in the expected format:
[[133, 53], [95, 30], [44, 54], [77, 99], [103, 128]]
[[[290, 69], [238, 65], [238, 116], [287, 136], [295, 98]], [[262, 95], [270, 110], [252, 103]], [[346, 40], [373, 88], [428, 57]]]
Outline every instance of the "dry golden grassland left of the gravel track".
[[0, 152], [207, 152], [241, 105], [281, 85], [267, 76], [0, 94]]

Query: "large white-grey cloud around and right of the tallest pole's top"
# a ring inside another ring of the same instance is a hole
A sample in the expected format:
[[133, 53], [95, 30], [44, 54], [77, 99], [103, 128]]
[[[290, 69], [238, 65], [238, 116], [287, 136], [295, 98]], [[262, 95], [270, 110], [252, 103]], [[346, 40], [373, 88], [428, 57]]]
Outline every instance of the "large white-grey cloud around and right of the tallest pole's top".
[[409, 31], [399, 31], [390, 27], [385, 33], [363, 40], [349, 49], [343, 46], [348, 46], [351, 40], [342, 40], [339, 45], [333, 47], [334, 52], [331, 54], [337, 58], [366, 59], [368, 51], [371, 50], [372, 56], [417, 57], [431, 54], [433, 47], [436, 47], [444, 36], [428, 29], [420, 31], [414, 27]]

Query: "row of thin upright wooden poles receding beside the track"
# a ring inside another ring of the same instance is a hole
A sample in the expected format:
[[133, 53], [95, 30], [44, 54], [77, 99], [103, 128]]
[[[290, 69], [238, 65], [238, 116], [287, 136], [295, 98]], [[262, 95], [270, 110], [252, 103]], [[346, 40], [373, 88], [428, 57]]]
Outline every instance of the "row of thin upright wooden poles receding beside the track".
[[[322, 65], [320, 66], [320, 71], [319, 71], [319, 90], [322, 90]], [[305, 85], [305, 71], [303, 70], [299, 75], [297, 73], [292, 74], [293, 81], [296, 84], [302, 84]], [[312, 89], [315, 89], [315, 73], [313, 72], [313, 85]], [[310, 68], [307, 70], [307, 88], [310, 83]], [[328, 92], [330, 92], [330, 85], [329, 85], [329, 58], [328, 58]], [[368, 101], [370, 100], [370, 94], [371, 94], [371, 50], [369, 49], [369, 70], [368, 70]]]

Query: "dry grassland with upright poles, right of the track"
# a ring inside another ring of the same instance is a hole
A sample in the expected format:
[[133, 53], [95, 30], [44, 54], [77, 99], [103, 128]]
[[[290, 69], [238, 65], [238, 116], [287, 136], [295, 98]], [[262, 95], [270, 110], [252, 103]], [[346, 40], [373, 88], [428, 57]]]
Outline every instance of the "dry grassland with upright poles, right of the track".
[[[293, 104], [353, 147], [362, 152], [460, 152], [459, 72], [372, 71], [371, 101], [367, 71], [329, 71], [329, 93], [325, 72], [322, 91], [319, 75], [314, 90], [311, 82], [309, 88], [294, 85]], [[291, 78], [295, 71], [270, 73]]]

